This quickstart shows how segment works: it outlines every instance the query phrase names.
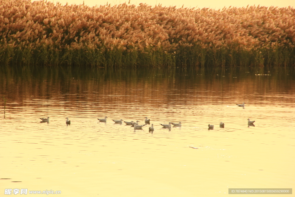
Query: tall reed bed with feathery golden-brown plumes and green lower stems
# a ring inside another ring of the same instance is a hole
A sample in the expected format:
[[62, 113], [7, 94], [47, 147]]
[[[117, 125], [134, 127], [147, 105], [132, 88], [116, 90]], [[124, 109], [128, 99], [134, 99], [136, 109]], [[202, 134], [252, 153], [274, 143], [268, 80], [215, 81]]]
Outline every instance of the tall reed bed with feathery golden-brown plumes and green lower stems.
[[291, 66], [295, 9], [0, 0], [2, 65]]

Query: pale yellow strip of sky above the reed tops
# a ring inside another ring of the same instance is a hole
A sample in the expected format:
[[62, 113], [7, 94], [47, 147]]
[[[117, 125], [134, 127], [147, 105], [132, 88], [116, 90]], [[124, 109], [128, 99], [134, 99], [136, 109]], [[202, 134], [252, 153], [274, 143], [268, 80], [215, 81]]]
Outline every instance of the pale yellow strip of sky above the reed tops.
[[[95, 6], [95, 5], [105, 5], [106, 3], [111, 3], [111, 5], [115, 4], [121, 4], [121, 3], [128, 3], [129, 0], [84, 0], [84, 3], [88, 6]], [[56, 0], [53, 0], [54, 3], [56, 3]], [[62, 4], [83, 4], [83, 0], [59, 0], [58, 2]], [[206, 0], [206, 1], [191, 1], [191, 0], [183, 0], [183, 1], [176, 1], [176, 0], [130, 0], [131, 4], [138, 5], [140, 3], [146, 3], [149, 5], [154, 6], [155, 4], [162, 4], [163, 6], [176, 6], [181, 7], [184, 5], [184, 7], [198, 7], [198, 8], [204, 8], [209, 7], [213, 9], [220, 9], [229, 6], [236, 6], [236, 7], [242, 7], [247, 5], [260, 5], [260, 6], [278, 6], [278, 7], [288, 7], [292, 6], [295, 7], [295, 1], [294, 0], [247, 0], [247, 1], [237, 1], [237, 0], [227, 0], [227, 1], [220, 1], [220, 0]]]

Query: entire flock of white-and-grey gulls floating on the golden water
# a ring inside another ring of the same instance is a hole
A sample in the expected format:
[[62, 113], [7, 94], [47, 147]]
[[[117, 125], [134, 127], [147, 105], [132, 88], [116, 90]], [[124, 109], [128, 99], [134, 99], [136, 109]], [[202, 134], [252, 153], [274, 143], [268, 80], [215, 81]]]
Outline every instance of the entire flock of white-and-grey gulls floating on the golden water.
[[[236, 105], [238, 105], [239, 107], [243, 107], [243, 108], [245, 107], [245, 103], [244, 102], [243, 102], [243, 104], [236, 104]], [[100, 122], [106, 122], [106, 118], [107, 118], [107, 116], [105, 116], [104, 119], [99, 119], [99, 118], [97, 118], [97, 119]], [[40, 118], [40, 119], [41, 119], [41, 123], [43, 123], [43, 122], [49, 123], [49, 117], [47, 117], [47, 118]], [[66, 118], [66, 119], [67, 120], [65, 121], [65, 123], [67, 125], [70, 125], [71, 124], [71, 121], [69, 120], [69, 118]], [[145, 124], [143, 124], [143, 125], [139, 125], [138, 124], [140, 121], [126, 122], [126, 121], [123, 121], [122, 119], [120, 119], [120, 120], [112, 120], [112, 121], [114, 121], [114, 123], [118, 123], [118, 124], [122, 124], [124, 122], [126, 125], [131, 125], [131, 127], [134, 127], [134, 130], [136, 130], [136, 129], [142, 129], [142, 127], [144, 127], [145, 125], [150, 124], [150, 119], [148, 119], [148, 117], [145, 117]], [[248, 126], [255, 126], [253, 124], [254, 122], [255, 121], [250, 121], [250, 118], [248, 118]], [[175, 126], [175, 127], [181, 127], [181, 122], [179, 122], [179, 123], [169, 122], [168, 124], [160, 124], [160, 125], [163, 126], [163, 128], [169, 128], [170, 129], [172, 125]], [[219, 127], [220, 128], [224, 128], [224, 123], [223, 122], [220, 122], [219, 123]], [[214, 125], [208, 124], [208, 130], [213, 129], [213, 128], [214, 128]], [[154, 130], [155, 130], [154, 129], [154, 124], [152, 124], [150, 126], [150, 128], [149, 128], [149, 132], [153, 133]]]

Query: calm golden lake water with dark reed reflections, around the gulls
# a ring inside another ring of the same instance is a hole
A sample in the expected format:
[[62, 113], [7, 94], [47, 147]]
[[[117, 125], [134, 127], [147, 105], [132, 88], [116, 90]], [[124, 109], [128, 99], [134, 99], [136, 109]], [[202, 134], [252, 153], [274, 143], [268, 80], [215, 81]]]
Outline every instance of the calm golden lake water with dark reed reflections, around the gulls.
[[[294, 69], [2, 67], [0, 94], [2, 194], [207, 197], [295, 185]], [[141, 130], [112, 121], [146, 116]]]

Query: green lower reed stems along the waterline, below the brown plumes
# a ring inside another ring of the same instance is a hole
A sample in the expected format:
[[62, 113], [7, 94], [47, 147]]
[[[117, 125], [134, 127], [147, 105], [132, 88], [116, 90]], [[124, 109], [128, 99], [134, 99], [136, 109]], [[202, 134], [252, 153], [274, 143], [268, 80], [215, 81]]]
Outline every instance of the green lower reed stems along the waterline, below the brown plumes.
[[39, 47], [19, 49], [1, 47], [1, 65], [18, 66], [90, 66], [90, 67], [135, 67], [135, 66], [294, 66], [295, 50], [208, 50], [200, 47], [180, 48], [172, 53], [163, 50], [127, 52], [120, 49], [61, 49]]

